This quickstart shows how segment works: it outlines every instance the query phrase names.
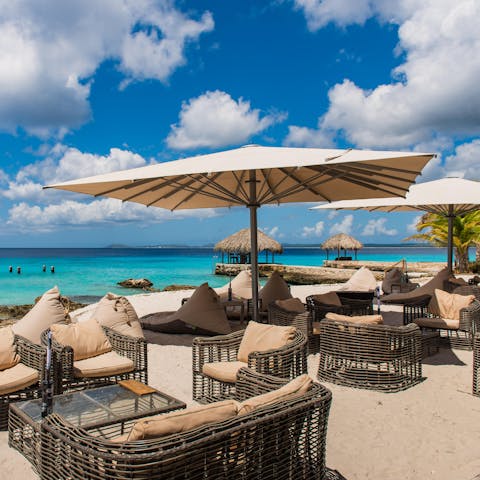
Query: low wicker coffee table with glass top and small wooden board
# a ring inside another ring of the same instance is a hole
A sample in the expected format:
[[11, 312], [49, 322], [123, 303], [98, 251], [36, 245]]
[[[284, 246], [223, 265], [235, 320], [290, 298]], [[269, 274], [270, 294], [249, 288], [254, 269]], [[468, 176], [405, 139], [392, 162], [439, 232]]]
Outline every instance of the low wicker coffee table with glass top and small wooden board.
[[[137, 394], [121, 385], [108, 385], [53, 397], [53, 413], [76, 427], [104, 438], [124, 433], [138, 418], [185, 408], [185, 403], [140, 382], [130, 382], [149, 393]], [[42, 400], [10, 404], [8, 443], [37, 468], [40, 450]]]

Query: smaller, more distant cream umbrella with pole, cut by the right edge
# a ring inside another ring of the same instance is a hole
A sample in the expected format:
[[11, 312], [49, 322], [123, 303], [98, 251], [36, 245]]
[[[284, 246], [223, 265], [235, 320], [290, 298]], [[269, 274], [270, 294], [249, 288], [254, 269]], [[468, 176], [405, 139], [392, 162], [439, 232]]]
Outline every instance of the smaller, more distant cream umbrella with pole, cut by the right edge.
[[479, 207], [480, 182], [447, 177], [412, 185], [405, 198], [344, 200], [312, 207], [312, 210], [379, 210], [383, 212], [421, 210], [443, 215], [448, 219], [447, 266], [451, 272], [453, 264], [453, 219], [458, 215], [478, 210]]

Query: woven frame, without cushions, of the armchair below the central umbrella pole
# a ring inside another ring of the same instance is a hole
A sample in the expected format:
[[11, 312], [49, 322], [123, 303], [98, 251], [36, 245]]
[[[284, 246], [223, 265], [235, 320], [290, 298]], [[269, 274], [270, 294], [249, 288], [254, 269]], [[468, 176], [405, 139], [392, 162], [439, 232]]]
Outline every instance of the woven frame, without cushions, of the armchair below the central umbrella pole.
[[[203, 366], [212, 362], [235, 362], [244, 330], [229, 335], [195, 338], [192, 344], [193, 399], [200, 403], [232, 398], [235, 383], [217, 380], [203, 373]], [[295, 378], [307, 372], [307, 338], [296, 330], [294, 339], [276, 350], [252, 352], [248, 367], [258, 373], [280, 378]]]

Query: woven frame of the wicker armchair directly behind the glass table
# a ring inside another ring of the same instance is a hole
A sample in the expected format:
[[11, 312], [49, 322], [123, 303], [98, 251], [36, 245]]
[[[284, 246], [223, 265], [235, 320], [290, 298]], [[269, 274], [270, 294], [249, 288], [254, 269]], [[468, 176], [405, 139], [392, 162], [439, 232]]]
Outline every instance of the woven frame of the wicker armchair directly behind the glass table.
[[[54, 358], [54, 393], [69, 390], [100, 387], [117, 383], [120, 380], [138, 380], [148, 383], [147, 342], [144, 338], [122, 335], [111, 328], [102, 327], [112, 345], [114, 352], [127, 357], [133, 362], [133, 370], [126, 373], [106, 376], [78, 377], [74, 372], [73, 349], [61, 345], [52, 338]], [[42, 343], [46, 345], [48, 330], [42, 333]]]

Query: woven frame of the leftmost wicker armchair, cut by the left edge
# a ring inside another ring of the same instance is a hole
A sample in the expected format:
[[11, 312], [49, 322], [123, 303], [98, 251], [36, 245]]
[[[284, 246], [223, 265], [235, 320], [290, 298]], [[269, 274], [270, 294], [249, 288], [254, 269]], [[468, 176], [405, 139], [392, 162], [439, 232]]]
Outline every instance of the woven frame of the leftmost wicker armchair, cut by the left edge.
[[8, 428], [8, 408], [10, 403], [38, 398], [43, 379], [45, 378], [46, 349], [40, 345], [35, 345], [20, 335], [15, 335], [14, 341], [17, 347], [17, 354], [20, 357], [20, 363], [36, 370], [38, 372], [38, 381], [20, 390], [0, 395], [0, 430], [7, 430]]

